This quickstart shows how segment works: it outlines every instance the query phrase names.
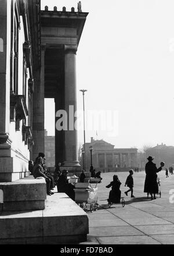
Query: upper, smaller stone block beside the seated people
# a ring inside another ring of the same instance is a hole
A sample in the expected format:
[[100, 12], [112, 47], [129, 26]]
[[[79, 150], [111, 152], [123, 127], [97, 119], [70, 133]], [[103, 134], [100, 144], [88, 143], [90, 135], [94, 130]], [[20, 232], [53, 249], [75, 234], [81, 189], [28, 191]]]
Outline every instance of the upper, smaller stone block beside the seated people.
[[44, 209], [46, 200], [46, 182], [33, 177], [0, 183], [3, 204], [1, 211], [24, 211]]

